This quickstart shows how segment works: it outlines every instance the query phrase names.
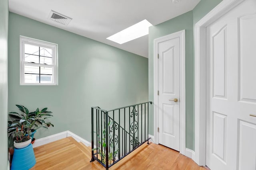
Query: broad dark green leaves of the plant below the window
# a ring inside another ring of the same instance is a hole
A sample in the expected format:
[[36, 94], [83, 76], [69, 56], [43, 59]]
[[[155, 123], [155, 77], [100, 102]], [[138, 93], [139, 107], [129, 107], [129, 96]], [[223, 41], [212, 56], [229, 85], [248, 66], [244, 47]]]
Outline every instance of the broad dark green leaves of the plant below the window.
[[[52, 117], [50, 113], [51, 111], [47, 111], [47, 107], [42, 109], [41, 111], [37, 108], [36, 111], [29, 112], [28, 109], [22, 105], [16, 105], [18, 109], [22, 112], [10, 112], [9, 113], [9, 121], [8, 121], [8, 133], [12, 135], [16, 131], [16, 127], [20, 127], [21, 125], [24, 125], [25, 131], [31, 131], [31, 137], [33, 139], [34, 133], [36, 133], [36, 130], [43, 127], [48, 129], [48, 127], [54, 125], [50, 122], [46, 122], [47, 118]], [[10, 137], [9, 135], [9, 137]], [[28, 134], [25, 134], [28, 136]]]

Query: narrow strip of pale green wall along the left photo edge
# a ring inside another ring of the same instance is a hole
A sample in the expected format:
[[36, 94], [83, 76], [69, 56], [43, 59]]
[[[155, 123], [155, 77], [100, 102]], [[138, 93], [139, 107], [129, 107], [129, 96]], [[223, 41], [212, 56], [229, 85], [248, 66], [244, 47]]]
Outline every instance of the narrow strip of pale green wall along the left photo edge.
[[0, 1], [0, 166], [6, 170], [8, 165], [8, 0]]

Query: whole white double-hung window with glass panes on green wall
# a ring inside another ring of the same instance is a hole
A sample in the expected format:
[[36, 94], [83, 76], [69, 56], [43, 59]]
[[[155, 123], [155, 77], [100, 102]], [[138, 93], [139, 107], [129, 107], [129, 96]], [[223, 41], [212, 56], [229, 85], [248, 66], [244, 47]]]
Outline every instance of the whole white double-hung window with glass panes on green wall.
[[58, 45], [20, 36], [20, 85], [58, 85]]

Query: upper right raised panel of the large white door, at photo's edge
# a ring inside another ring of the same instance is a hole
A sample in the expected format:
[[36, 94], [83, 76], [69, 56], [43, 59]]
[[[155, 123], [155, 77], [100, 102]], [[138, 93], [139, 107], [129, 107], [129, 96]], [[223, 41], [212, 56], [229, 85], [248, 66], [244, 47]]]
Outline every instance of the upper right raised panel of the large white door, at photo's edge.
[[238, 21], [238, 100], [256, 103], [256, 14]]

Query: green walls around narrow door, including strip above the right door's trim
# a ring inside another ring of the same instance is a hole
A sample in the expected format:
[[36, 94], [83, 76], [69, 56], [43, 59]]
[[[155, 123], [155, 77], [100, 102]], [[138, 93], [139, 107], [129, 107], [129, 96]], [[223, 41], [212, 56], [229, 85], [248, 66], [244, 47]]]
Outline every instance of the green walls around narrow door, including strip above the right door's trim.
[[[148, 35], [148, 98], [154, 101], [154, 39], [185, 29], [186, 31], [186, 148], [194, 150], [194, 25], [222, 0], [201, 0], [185, 14], [165, 21], [149, 29]], [[154, 112], [150, 112], [150, 124], [154, 125]], [[154, 135], [154, 126], [150, 134]]]

